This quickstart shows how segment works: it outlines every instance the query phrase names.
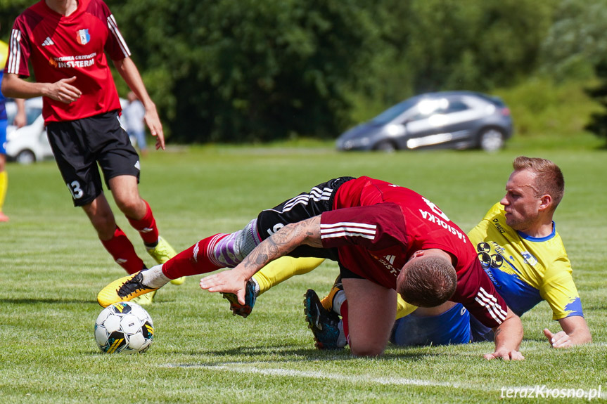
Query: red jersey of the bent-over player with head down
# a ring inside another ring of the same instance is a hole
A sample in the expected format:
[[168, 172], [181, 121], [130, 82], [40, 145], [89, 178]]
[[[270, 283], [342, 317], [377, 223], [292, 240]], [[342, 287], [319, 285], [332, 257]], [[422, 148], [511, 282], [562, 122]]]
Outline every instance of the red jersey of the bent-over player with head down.
[[483, 271], [476, 250], [432, 202], [407, 188], [360, 177], [338, 188], [332, 211], [321, 216], [323, 247], [336, 247], [342, 266], [396, 289], [396, 278], [418, 249], [454, 257], [457, 287], [450, 299], [464, 304], [487, 327], [506, 319], [506, 302]]

